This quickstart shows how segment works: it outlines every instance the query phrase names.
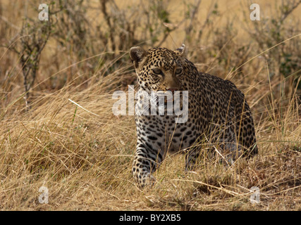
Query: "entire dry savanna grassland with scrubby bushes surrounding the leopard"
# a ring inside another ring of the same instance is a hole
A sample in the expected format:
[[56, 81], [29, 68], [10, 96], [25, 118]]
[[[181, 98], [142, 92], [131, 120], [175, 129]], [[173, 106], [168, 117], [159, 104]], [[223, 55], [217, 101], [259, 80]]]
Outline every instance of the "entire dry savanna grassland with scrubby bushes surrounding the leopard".
[[[301, 210], [301, 1], [0, 1], [0, 210]], [[132, 46], [188, 48], [251, 107], [259, 154], [185, 172], [168, 155], [140, 190], [135, 122], [112, 113]], [[40, 187], [49, 203], [39, 203]], [[259, 188], [259, 203], [250, 188]]]

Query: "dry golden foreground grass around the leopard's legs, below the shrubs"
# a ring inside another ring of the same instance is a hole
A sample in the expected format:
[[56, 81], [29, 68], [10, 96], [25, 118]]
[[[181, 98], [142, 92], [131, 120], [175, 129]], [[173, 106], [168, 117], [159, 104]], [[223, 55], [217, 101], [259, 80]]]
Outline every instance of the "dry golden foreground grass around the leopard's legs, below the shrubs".
[[[259, 154], [251, 160], [226, 167], [204, 158], [185, 173], [183, 155], [168, 156], [156, 185], [139, 190], [130, 174], [135, 124], [111, 113], [113, 82], [118, 75], [84, 91], [66, 86], [1, 120], [2, 210], [301, 210], [301, 124], [293, 100], [283, 120], [269, 110], [257, 122]], [[49, 188], [48, 204], [38, 202], [41, 186]], [[259, 204], [250, 203], [252, 186], [260, 188]]]

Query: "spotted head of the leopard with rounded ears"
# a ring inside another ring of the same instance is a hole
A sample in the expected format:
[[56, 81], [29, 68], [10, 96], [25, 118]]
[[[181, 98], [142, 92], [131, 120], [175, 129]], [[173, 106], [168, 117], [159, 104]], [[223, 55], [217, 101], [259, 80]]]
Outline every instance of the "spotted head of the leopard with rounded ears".
[[185, 45], [175, 51], [154, 48], [145, 51], [137, 46], [130, 49], [140, 88], [145, 91], [176, 91], [182, 89]]

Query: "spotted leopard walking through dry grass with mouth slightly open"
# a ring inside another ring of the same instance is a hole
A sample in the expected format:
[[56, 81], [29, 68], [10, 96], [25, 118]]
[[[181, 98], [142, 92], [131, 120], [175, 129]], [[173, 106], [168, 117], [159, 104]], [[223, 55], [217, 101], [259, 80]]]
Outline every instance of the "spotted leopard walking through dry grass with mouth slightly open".
[[204, 148], [202, 143], [228, 153], [225, 159], [231, 163], [258, 153], [245, 95], [230, 80], [199, 72], [186, 56], [185, 44], [176, 50], [130, 48], [138, 91], [169, 91], [173, 95], [178, 91], [182, 98], [183, 91], [188, 91], [188, 118], [184, 122], [176, 123], [179, 116], [175, 112], [166, 115], [166, 110], [164, 115], [135, 114], [137, 145], [132, 173], [140, 188], [156, 182], [152, 174], [166, 153], [185, 153], [185, 170], [196, 165]]

